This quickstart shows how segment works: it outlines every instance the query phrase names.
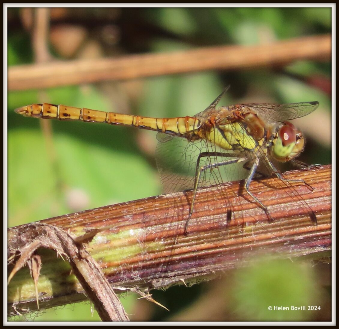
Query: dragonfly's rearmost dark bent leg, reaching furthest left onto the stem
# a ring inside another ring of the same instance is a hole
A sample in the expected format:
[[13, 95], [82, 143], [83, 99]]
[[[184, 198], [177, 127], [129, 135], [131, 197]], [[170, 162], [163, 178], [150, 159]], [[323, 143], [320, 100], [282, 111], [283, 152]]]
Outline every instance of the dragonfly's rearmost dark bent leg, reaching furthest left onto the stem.
[[[200, 159], [201, 158], [205, 158], [205, 157], [227, 157], [227, 158], [231, 158], [231, 157], [236, 157], [235, 159], [228, 159], [228, 160], [224, 160], [224, 161], [218, 161], [215, 163], [210, 163], [204, 166], [200, 166]], [[228, 164], [232, 164], [232, 163], [238, 163], [238, 162], [243, 162], [246, 161], [247, 158], [238, 158], [236, 155], [230, 154], [230, 153], [222, 153], [222, 152], [202, 152], [199, 154], [198, 160], [197, 160], [197, 165], [196, 165], [196, 172], [195, 172], [195, 180], [194, 180], [194, 193], [193, 193], [193, 199], [192, 199], [192, 203], [191, 203], [191, 208], [190, 208], [190, 214], [188, 215], [188, 219], [186, 221], [185, 224], [185, 229], [184, 229], [184, 234], [187, 233], [187, 225], [188, 225], [188, 220], [191, 218], [192, 213], [193, 213], [193, 207], [194, 207], [194, 201], [195, 201], [195, 197], [197, 194], [197, 189], [198, 189], [198, 184], [199, 184], [199, 179], [201, 176], [201, 173], [203, 171], [205, 171], [206, 169], [213, 169], [213, 168], [218, 168], [220, 166], [224, 166], [224, 165], [228, 165]], [[230, 217], [230, 213], [227, 212], [227, 218]]]

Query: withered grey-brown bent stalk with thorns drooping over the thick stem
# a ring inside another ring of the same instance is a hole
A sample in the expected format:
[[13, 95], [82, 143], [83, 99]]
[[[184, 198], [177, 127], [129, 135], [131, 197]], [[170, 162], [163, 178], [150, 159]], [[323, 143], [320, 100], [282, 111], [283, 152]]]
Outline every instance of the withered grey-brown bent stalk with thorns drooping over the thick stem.
[[[27, 263], [34, 278], [37, 294], [41, 259], [40, 256], [35, 255], [35, 252], [38, 248], [53, 249], [67, 257], [73, 272], [81, 282], [102, 321], [129, 321], [119, 298], [103, 275], [97, 262], [86, 251], [82, 243], [77, 243], [69, 233], [59, 227], [39, 222], [21, 225], [14, 232], [16, 245], [12, 245], [15, 249], [11, 248], [11, 253], [20, 256], [18, 259], [17, 257], [9, 257], [11, 259], [9, 263], [14, 264], [14, 267], [9, 274], [8, 283]], [[37, 307], [39, 308], [38, 294], [36, 297]]]

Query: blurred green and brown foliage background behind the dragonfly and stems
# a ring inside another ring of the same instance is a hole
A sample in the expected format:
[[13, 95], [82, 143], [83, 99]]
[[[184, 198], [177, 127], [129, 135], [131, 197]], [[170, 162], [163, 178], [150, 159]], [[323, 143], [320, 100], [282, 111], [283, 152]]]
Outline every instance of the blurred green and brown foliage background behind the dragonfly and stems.
[[[36, 10], [8, 8], [9, 66], [34, 61], [31, 31]], [[331, 33], [331, 8], [51, 8], [49, 18], [48, 49], [63, 60], [251, 45]], [[15, 108], [46, 102], [144, 116], [186, 116], [204, 110], [229, 84], [229, 104], [222, 105], [318, 100], [319, 108], [296, 123], [307, 138], [300, 160], [331, 163], [331, 63], [326, 61], [9, 91], [8, 226], [161, 194], [155, 132], [51, 120], [49, 138], [40, 120], [19, 116]], [[135, 321], [324, 321], [331, 316], [328, 271], [325, 264], [311, 267], [285, 261], [270, 267], [264, 261], [246, 272], [225, 273], [230, 279], [217, 283], [155, 291], [154, 299], [171, 312], [136, 300], [135, 295], [122, 301]], [[267, 303], [281, 292], [287, 296], [282, 305], [321, 302], [327, 309], [267, 313]], [[215, 304], [220, 314], [204, 315], [199, 310], [199, 298], [208, 294], [212, 300], [204, 305]], [[184, 311], [190, 305], [193, 310]], [[92, 316], [89, 303], [33, 318], [99, 320], [96, 312]]]

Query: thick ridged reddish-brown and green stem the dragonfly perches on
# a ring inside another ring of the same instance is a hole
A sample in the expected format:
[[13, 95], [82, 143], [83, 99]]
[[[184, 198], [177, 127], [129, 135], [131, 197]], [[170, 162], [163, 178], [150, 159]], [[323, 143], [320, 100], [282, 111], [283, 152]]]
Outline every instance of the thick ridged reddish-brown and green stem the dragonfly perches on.
[[[86, 251], [114, 288], [147, 295], [149, 289], [182, 280], [194, 283], [211, 279], [218, 271], [255, 262], [262, 253], [271, 254], [272, 258], [318, 259], [330, 255], [331, 166], [292, 171], [285, 173], [285, 177], [303, 179], [313, 190], [305, 185], [291, 189], [276, 179], [253, 181], [251, 191], [265, 200], [275, 219], [271, 223], [267, 222], [262, 209], [250, 202], [241, 188], [239, 190], [239, 182], [227, 183], [220, 190], [210, 187], [199, 191], [187, 235], [184, 227], [192, 191], [105, 206], [41, 223], [68, 231], [78, 237], [77, 242], [88, 242]], [[208, 199], [211, 193], [215, 203]], [[222, 199], [225, 195], [230, 196], [228, 200], [232, 204], [232, 218], [226, 226], [227, 205]], [[305, 202], [299, 202], [301, 198]], [[310, 208], [306, 203], [317, 216], [316, 226], [310, 221]], [[21, 227], [8, 230], [9, 272], [20, 250]], [[38, 283], [40, 307], [83, 300], [84, 288], [69, 276], [64, 261], [55, 254], [37, 252], [43, 263]], [[27, 291], [23, 293], [23, 289]], [[21, 269], [8, 286], [8, 314], [34, 310], [34, 282], [29, 272]]]

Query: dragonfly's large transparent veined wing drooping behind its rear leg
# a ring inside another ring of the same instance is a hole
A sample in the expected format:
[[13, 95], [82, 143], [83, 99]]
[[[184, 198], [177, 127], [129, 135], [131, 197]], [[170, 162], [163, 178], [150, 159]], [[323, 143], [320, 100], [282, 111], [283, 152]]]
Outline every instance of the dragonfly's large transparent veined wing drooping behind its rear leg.
[[[199, 216], [199, 211], [208, 209], [212, 212], [213, 209], [220, 207], [220, 202], [222, 202], [227, 211], [211, 216], [213, 219], [209, 220], [209, 225], [215, 227], [218, 232], [221, 232], [220, 236], [225, 238], [234, 206], [236, 206], [232, 203], [236, 195], [235, 193], [234, 195], [226, 195], [221, 184], [244, 179], [248, 175], [248, 170], [244, 169], [241, 163], [212, 168], [212, 164], [227, 161], [228, 158], [215, 156], [215, 152], [222, 152], [223, 150], [207, 141], [188, 142], [179, 136], [169, 136], [163, 133], [158, 133], [157, 139], [159, 142], [156, 149], [156, 160], [165, 193], [194, 189], [199, 154], [203, 152], [209, 154], [209, 156], [200, 158], [199, 161], [199, 167], [207, 166], [207, 169], [202, 171], [200, 175], [199, 189], [195, 198], [196, 201], [204, 200], [205, 207], [200, 209], [199, 203], [194, 202], [191, 217], [188, 212], [185, 215], [178, 213], [177, 216], [182, 216], [183, 223], [186, 223], [187, 234], [197, 232], [194, 235], [206, 241], [204, 234], [198, 233], [200, 227], [206, 225], [204, 217]], [[234, 157], [230, 159], [234, 159]], [[213, 193], [211, 193], [211, 189], [203, 188], [207, 186], [214, 186]], [[192, 202], [192, 200], [189, 200], [189, 202]], [[173, 204], [173, 209], [176, 209], [175, 204]]]

